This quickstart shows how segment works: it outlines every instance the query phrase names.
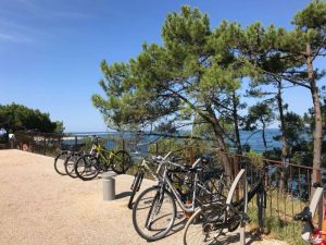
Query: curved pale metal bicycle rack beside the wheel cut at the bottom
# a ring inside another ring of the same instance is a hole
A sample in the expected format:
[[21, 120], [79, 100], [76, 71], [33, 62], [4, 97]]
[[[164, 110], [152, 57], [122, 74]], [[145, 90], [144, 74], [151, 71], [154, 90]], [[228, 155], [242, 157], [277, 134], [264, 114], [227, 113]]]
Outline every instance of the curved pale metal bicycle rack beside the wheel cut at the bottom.
[[248, 183], [247, 183], [247, 170], [241, 169], [240, 172], [237, 174], [236, 179], [234, 180], [230, 191], [227, 195], [226, 204], [227, 206], [231, 206], [233, 196], [236, 192], [237, 185], [242, 180], [243, 183], [243, 198], [244, 198], [244, 208], [242, 210], [241, 216], [241, 224], [240, 224], [240, 245], [246, 244], [246, 221], [244, 217], [247, 216], [247, 209], [248, 209]]

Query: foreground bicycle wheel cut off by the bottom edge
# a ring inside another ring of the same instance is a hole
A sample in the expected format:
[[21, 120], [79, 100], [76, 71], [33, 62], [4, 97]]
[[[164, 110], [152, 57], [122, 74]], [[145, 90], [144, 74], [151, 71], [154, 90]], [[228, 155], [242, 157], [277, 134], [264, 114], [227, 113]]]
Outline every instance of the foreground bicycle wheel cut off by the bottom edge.
[[225, 205], [214, 204], [199, 208], [186, 223], [184, 245], [217, 244], [217, 237], [225, 225]]

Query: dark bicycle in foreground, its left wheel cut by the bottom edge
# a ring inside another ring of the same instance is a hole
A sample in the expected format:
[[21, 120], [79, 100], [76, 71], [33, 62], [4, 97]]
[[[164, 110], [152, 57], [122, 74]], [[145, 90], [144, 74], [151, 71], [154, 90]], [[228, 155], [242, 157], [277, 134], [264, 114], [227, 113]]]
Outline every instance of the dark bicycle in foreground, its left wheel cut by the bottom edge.
[[[256, 196], [259, 226], [264, 226], [264, 209], [266, 208], [265, 168], [258, 182], [248, 192], [248, 203]], [[238, 229], [241, 220], [249, 221], [242, 217], [244, 198], [233, 201], [234, 193], [239, 179], [236, 177], [226, 199], [199, 207], [185, 225], [184, 245], [217, 244], [218, 236], [224, 229], [233, 232]]]

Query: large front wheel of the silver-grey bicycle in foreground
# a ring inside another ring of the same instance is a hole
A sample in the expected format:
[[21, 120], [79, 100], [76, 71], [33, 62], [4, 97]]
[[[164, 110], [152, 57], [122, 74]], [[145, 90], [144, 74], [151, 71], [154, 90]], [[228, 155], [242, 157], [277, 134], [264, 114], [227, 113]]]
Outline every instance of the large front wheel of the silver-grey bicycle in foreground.
[[176, 206], [170, 192], [154, 186], [143, 191], [133, 208], [133, 223], [137, 233], [147, 241], [164, 237], [172, 229]]

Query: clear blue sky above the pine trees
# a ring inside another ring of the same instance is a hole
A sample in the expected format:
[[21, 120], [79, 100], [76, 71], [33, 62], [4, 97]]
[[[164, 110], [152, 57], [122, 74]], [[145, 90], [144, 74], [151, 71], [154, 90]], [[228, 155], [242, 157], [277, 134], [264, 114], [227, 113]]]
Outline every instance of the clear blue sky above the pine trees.
[[[101, 93], [100, 62], [128, 61], [143, 41], [162, 44], [168, 12], [179, 12], [184, 4], [198, 7], [209, 14], [212, 28], [222, 20], [291, 28], [293, 14], [309, 2], [0, 0], [0, 103], [49, 112], [51, 120], [64, 122], [66, 132], [105, 131], [90, 101]], [[318, 65], [325, 68], [325, 61]], [[312, 105], [305, 89], [285, 95], [298, 113]]]

